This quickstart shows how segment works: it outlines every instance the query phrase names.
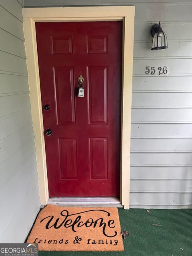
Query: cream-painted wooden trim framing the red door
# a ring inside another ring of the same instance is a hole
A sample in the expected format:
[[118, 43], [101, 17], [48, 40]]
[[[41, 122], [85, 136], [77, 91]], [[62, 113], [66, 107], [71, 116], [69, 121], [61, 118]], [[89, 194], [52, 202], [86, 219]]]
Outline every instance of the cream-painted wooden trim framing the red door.
[[120, 202], [129, 208], [134, 6], [24, 8], [23, 26], [40, 201], [49, 200], [35, 22], [123, 21]]

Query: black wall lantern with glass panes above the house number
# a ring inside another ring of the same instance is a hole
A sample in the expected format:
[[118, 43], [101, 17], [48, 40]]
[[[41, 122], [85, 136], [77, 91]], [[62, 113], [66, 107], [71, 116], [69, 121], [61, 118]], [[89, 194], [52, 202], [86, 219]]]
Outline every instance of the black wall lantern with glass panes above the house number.
[[153, 36], [152, 48], [151, 50], [161, 50], [168, 48], [167, 46], [167, 36], [161, 28], [161, 24], [155, 24], [151, 29], [151, 35]]

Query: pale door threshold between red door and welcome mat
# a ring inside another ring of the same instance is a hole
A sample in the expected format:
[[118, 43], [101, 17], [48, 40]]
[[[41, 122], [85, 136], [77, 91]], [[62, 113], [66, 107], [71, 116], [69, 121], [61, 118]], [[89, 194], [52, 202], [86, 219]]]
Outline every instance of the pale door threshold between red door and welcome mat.
[[123, 207], [117, 197], [51, 197], [47, 204], [73, 207]]

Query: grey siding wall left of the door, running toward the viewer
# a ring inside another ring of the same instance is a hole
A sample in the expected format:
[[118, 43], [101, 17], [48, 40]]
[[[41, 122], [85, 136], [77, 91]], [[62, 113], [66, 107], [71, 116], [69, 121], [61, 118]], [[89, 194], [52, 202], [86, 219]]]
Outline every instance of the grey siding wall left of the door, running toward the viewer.
[[40, 209], [22, 1], [0, 1], [0, 242], [24, 242]]

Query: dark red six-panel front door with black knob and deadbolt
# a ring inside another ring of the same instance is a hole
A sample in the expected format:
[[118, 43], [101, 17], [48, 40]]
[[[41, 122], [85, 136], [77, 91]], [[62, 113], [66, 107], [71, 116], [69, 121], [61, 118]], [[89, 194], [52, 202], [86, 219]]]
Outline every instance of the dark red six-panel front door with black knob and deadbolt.
[[118, 197], [122, 22], [37, 22], [36, 36], [49, 196]]

